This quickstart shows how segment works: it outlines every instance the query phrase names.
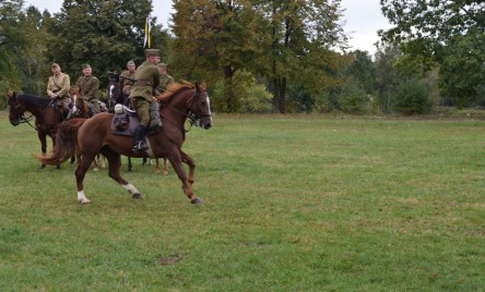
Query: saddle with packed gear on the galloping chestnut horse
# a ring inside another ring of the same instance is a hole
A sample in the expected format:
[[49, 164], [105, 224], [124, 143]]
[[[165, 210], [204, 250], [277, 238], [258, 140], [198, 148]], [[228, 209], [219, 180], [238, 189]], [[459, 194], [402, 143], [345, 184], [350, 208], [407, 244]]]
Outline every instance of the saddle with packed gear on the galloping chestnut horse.
[[[111, 133], [114, 135], [132, 137], [139, 124], [140, 117], [134, 110], [121, 104], [115, 106], [115, 115], [111, 120]], [[158, 104], [152, 104], [150, 108], [150, 127], [146, 135], [157, 134], [161, 127], [162, 121], [159, 120]]]

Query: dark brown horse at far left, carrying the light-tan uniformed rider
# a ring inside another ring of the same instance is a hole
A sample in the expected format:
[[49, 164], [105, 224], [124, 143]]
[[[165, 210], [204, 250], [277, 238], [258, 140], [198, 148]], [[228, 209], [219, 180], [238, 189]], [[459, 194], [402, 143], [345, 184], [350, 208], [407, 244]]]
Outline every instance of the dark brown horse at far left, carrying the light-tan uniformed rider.
[[[34, 95], [16, 95], [12, 93], [8, 95], [8, 104], [10, 106], [9, 119], [14, 126], [21, 123], [27, 123], [37, 131], [40, 141], [40, 151], [43, 155], [47, 153], [47, 136], [52, 139], [52, 148], [56, 145], [56, 133], [59, 124], [62, 122], [62, 114], [55, 101], [40, 98]], [[26, 112], [31, 112], [29, 117], [25, 117]], [[32, 115], [35, 117], [34, 125], [31, 124]], [[45, 163], [40, 168], [45, 168]], [[60, 168], [60, 163], [57, 163]]]

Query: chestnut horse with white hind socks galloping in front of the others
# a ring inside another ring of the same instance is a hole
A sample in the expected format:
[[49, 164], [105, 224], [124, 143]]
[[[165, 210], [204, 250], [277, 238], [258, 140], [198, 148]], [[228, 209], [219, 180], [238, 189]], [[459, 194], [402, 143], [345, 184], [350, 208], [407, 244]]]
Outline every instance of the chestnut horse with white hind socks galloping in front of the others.
[[[90, 203], [84, 194], [84, 177], [91, 162], [97, 153], [102, 153], [109, 162], [109, 177], [121, 184], [133, 198], [141, 198], [141, 193], [123, 178], [120, 177], [120, 155], [128, 157], [164, 157], [168, 158], [182, 182], [182, 190], [192, 204], [202, 200], [192, 192], [196, 165], [191, 157], [181, 150], [185, 142], [185, 122], [187, 119], [192, 124], [203, 129], [212, 126], [212, 114], [205, 84], [180, 85], [173, 84], [169, 92], [165, 93], [159, 102], [159, 115], [163, 121], [161, 131], [147, 137], [150, 149], [143, 154], [132, 151], [133, 137], [114, 135], [111, 133], [113, 114], [102, 112], [91, 119], [72, 119], [61, 124], [54, 153], [47, 157], [35, 157], [47, 165], [56, 165], [66, 161], [79, 145], [82, 155], [81, 163], [75, 170], [78, 184], [78, 199], [81, 203]], [[189, 175], [182, 168], [182, 162], [189, 166]]]

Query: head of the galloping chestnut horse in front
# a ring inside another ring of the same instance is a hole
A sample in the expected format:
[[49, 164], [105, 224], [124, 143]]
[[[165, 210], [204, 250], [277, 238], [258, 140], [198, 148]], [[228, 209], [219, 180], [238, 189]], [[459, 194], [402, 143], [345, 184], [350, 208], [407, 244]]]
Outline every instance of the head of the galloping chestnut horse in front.
[[205, 82], [196, 82], [192, 97], [188, 101], [189, 114], [193, 117], [196, 125], [209, 130], [212, 126], [211, 101], [206, 92]]

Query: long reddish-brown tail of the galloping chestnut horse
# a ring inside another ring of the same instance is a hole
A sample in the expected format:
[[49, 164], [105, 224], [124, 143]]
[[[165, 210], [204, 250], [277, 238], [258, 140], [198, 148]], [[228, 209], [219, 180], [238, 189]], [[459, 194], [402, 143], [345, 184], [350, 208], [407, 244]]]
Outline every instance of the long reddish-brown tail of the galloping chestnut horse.
[[60, 123], [54, 151], [46, 156], [35, 154], [34, 157], [43, 165], [49, 166], [57, 166], [71, 158], [78, 147], [78, 131], [86, 120], [78, 118]]

